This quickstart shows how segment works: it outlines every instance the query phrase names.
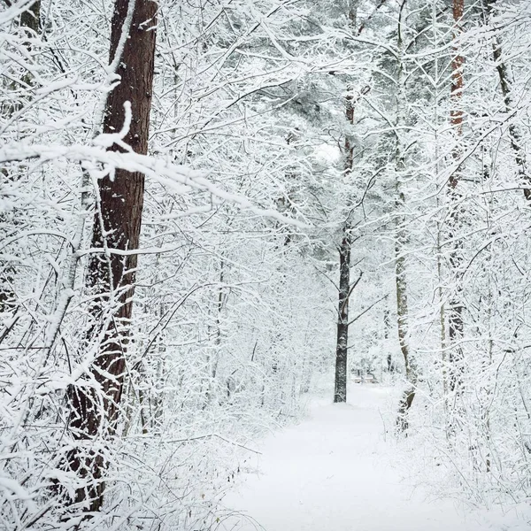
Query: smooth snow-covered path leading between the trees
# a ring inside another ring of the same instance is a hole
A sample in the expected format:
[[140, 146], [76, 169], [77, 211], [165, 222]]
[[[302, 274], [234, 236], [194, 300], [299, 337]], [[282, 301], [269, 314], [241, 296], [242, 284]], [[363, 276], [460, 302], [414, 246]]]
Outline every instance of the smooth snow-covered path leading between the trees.
[[[389, 389], [352, 385], [349, 404], [315, 399], [300, 424], [263, 440], [257, 470], [227, 494], [220, 528], [232, 531], [485, 531], [522, 520], [429, 498], [404, 480], [384, 440]], [[396, 459], [396, 458], [395, 458]]]

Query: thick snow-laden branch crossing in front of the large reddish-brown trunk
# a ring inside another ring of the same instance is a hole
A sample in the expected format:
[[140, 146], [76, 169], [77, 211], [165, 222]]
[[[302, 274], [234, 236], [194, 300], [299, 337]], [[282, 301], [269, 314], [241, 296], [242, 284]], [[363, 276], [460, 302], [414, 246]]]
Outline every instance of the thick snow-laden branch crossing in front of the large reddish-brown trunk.
[[[122, 132], [118, 134], [121, 135]], [[98, 135], [96, 143], [108, 145], [109, 135]], [[114, 139], [114, 135], [111, 135]], [[79, 162], [90, 173], [97, 173], [98, 178], [110, 175], [114, 177], [116, 169], [127, 172], [143, 173], [147, 178], [164, 184], [177, 194], [190, 191], [192, 189], [209, 192], [212, 196], [212, 203], [229, 202], [237, 204], [242, 210], [253, 212], [258, 216], [273, 218], [299, 228], [310, 227], [309, 223], [304, 223], [298, 219], [283, 216], [274, 209], [263, 209], [253, 204], [246, 196], [233, 194], [227, 190], [220, 189], [208, 179], [208, 173], [204, 171], [192, 170], [182, 165], [174, 165], [159, 158], [149, 155], [139, 155], [128, 152], [119, 153], [116, 151], [106, 151], [99, 146], [87, 146], [81, 144], [64, 145], [16, 145], [4, 146], [0, 149], [0, 163], [17, 162], [23, 160], [36, 159], [40, 165], [46, 162], [53, 162], [57, 159], [65, 159], [71, 162]], [[98, 167], [101, 165], [101, 167]]]

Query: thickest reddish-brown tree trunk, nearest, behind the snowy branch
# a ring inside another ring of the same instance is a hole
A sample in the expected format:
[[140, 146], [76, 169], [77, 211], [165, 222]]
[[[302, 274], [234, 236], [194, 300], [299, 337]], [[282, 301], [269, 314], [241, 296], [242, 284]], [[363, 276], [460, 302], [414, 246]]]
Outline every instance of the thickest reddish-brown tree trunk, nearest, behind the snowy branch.
[[[122, 31], [127, 31], [129, 2], [116, 0], [112, 17], [111, 62], [117, 53]], [[124, 125], [124, 104], [131, 105], [132, 121], [124, 141], [136, 152], [146, 154], [150, 126], [151, 89], [154, 73], [157, 3], [136, 0], [121, 58], [119, 84], [107, 98], [104, 133], [118, 132]], [[121, 150], [113, 145], [111, 150]], [[126, 351], [135, 294], [137, 255], [114, 250], [137, 250], [142, 223], [144, 176], [117, 170], [98, 183], [99, 201], [92, 235], [92, 248], [104, 249], [89, 263], [89, 289], [95, 296], [92, 315], [97, 323], [93, 339], [104, 333], [89, 379], [69, 389], [69, 425], [80, 442], [70, 456], [70, 467], [87, 487], [78, 489], [75, 501], [97, 511], [103, 503], [105, 462], [91, 441], [112, 435], [119, 419]], [[112, 319], [104, 319], [111, 312]], [[111, 325], [105, 324], [111, 322]], [[101, 327], [104, 327], [103, 329]], [[90, 381], [90, 383], [89, 383]], [[96, 386], [94, 383], [96, 382]]]

